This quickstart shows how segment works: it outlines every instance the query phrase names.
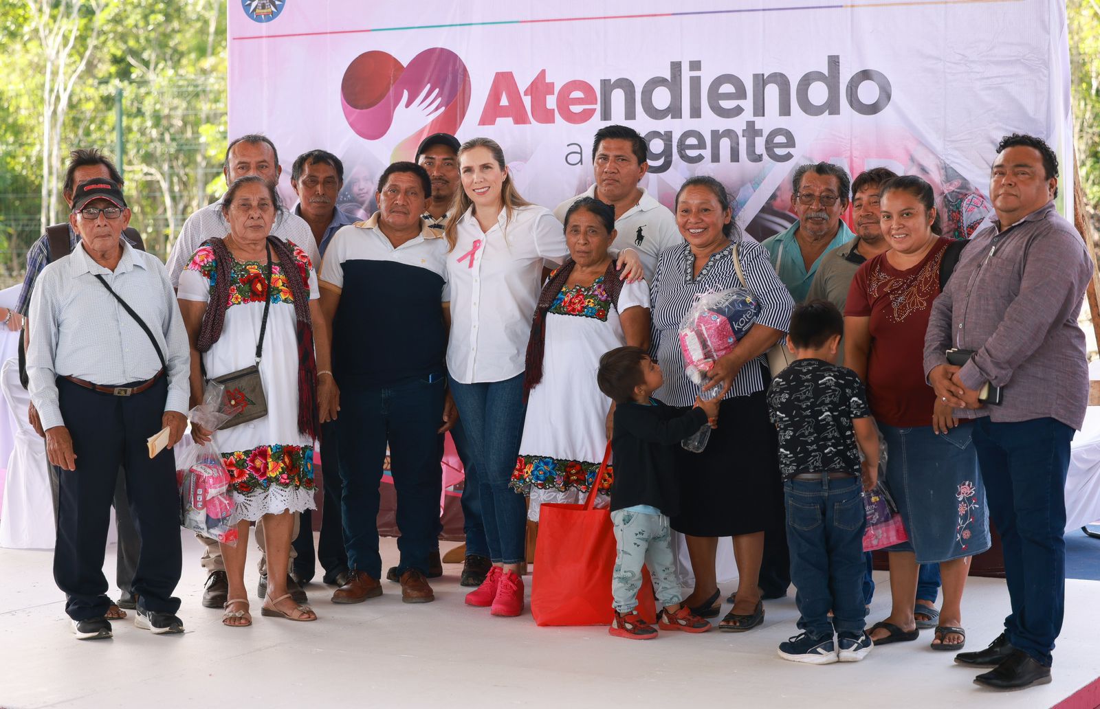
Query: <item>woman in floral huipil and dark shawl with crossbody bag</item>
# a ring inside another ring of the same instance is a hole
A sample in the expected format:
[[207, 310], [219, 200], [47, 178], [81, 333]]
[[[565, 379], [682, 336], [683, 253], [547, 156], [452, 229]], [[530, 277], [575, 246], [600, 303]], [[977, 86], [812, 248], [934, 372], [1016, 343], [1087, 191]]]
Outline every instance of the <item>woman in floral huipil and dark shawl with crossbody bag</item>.
[[[314, 440], [320, 421], [334, 413], [334, 384], [327, 372], [329, 342], [309, 257], [294, 244], [268, 236], [277, 204], [274, 188], [261, 178], [234, 181], [222, 198], [230, 234], [210, 239], [195, 252], [177, 292], [191, 345], [193, 402], [201, 400], [206, 378], [254, 364], [263, 330], [260, 374], [267, 416], [212, 435], [237, 502], [232, 522], [239, 541], [221, 547], [229, 577], [223, 622], [234, 627], [252, 622], [244, 562], [249, 525], [261, 518], [271, 579], [264, 614], [317, 620], [309, 607], [290, 599], [286, 573], [293, 513], [316, 509]], [[210, 439], [198, 426], [191, 430], [197, 442]]]

